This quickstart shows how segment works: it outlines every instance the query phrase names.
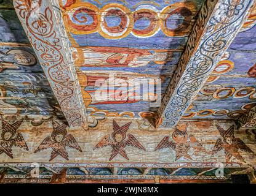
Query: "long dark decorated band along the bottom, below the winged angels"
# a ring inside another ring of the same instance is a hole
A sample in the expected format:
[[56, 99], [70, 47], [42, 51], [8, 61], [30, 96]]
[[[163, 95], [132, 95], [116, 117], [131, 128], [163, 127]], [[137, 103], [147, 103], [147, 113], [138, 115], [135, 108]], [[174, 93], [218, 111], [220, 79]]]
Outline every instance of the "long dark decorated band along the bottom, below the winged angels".
[[[246, 168], [116, 168], [111, 167], [0, 167], [0, 183], [231, 183], [233, 173], [249, 173]], [[146, 173], [143, 173], [143, 171]], [[176, 172], [174, 172], [176, 171]], [[39, 176], [39, 178], [37, 178]]]

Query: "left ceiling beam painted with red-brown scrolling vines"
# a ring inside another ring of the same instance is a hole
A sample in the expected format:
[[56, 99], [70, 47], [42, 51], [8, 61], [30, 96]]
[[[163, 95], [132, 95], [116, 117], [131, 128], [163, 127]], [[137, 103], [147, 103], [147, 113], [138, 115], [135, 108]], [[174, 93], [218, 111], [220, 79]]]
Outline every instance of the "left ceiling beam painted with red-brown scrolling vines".
[[58, 1], [13, 2], [68, 124], [70, 127], [87, 127], [86, 107], [82, 100]]

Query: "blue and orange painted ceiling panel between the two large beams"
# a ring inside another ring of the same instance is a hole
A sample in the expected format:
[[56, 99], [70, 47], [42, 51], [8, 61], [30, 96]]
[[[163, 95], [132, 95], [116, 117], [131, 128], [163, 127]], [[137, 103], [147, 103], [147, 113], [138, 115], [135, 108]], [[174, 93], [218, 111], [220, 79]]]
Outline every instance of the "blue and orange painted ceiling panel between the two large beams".
[[[158, 105], [151, 102], [166, 92], [201, 4], [62, 1], [86, 106], [115, 115], [125, 111], [130, 117], [157, 111]], [[161, 85], [161, 90], [142, 94], [140, 86], [149, 83]], [[109, 85], [113, 87], [107, 89]], [[107, 93], [108, 99], [99, 100], [98, 91]]]

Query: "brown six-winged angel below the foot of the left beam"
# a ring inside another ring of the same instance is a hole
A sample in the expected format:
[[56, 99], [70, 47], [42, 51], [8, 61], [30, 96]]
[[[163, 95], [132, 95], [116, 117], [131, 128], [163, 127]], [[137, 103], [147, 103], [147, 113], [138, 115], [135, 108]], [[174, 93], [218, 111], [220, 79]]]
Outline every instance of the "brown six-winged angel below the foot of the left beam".
[[34, 151], [34, 153], [38, 153], [39, 151], [43, 151], [45, 149], [51, 148], [52, 153], [50, 154], [49, 161], [55, 159], [57, 156], [61, 156], [66, 160], [68, 159], [68, 151], [66, 147], [70, 147], [82, 152], [81, 147], [78, 145], [78, 142], [73, 137], [73, 135], [68, 134], [66, 127], [66, 123], [60, 124], [54, 119], [52, 120], [53, 131], [52, 134], [42, 141], [42, 143], [38, 146], [38, 148]]

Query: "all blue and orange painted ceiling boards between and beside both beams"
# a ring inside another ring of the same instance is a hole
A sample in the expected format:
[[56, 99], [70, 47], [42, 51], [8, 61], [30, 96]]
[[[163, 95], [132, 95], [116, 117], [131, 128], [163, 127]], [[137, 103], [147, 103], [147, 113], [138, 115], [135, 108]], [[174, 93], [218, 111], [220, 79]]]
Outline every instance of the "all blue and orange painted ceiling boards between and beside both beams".
[[[196, 18], [196, 13], [200, 9], [202, 1], [193, 1], [188, 4], [174, 2], [176, 11], [169, 16], [166, 25], [168, 26], [169, 23], [169, 28], [176, 28], [176, 31], [162, 31], [161, 24], [157, 23], [155, 24], [157, 30], [152, 35], [143, 36], [143, 31], [139, 31], [142, 36], [137, 36], [134, 33], [137, 31], [134, 29], [140, 30], [141, 28], [145, 30], [146, 27], [140, 24], [150, 24], [151, 20], [141, 17], [135, 21], [133, 28], [127, 28], [129, 33], [119, 37], [119, 39], [98, 32], [101, 30], [95, 29], [93, 32], [79, 31], [78, 29], [83, 25], [82, 22], [87, 21], [84, 17], [89, 17], [90, 20], [93, 19], [86, 13], [89, 10], [83, 10], [83, 6], [90, 5], [89, 7], [93, 7], [95, 10], [101, 10], [104, 6], [105, 8], [106, 6], [114, 7], [117, 4], [131, 15], [135, 15], [137, 13], [136, 10], [144, 9], [145, 7], [148, 10], [154, 10], [152, 13], [161, 14], [164, 12], [163, 10], [170, 8], [168, 6], [170, 5], [169, 2], [83, 1], [76, 3], [63, 1], [62, 3], [64, 7], [63, 20], [66, 21], [66, 30], [69, 33], [70, 45], [73, 50], [73, 56], [76, 59], [76, 70], [85, 104], [88, 108], [87, 112], [94, 113], [94, 115], [97, 112], [97, 115], [101, 116], [97, 118], [104, 118], [102, 115], [153, 116], [153, 113], [148, 113], [148, 111], [156, 111], [158, 107], [150, 107], [150, 100], [140, 100], [143, 95], [137, 91], [136, 88], [138, 86], [136, 86], [136, 83], [143, 84], [143, 82], [148, 82], [147, 79], [158, 78], [158, 80], [154, 81], [161, 83], [161, 94], [162, 96], [164, 95], [186, 45], [186, 40], [190, 33], [188, 29], [193, 26], [194, 18]], [[183, 10], [183, 13], [180, 7], [184, 6], [184, 4], [186, 12]], [[0, 76], [1, 93], [3, 94], [1, 113], [51, 115], [59, 108], [57, 100], [50, 90], [41, 67], [34, 59], [36, 55], [34, 55], [33, 49], [30, 47], [15, 11], [9, 9], [12, 4], [6, 1], [1, 6], [7, 7], [7, 9], [1, 9], [0, 18], [1, 61], [7, 61], [6, 64], [2, 64]], [[151, 14], [151, 11], [148, 12]], [[188, 14], [187, 12], [191, 12], [190, 17], [183, 16]], [[109, 17], [111, 18], [111, 16]], [[107, 18], [106, 21], [108, 21]], [[88, 19], [87, 22], [92, 23], [90, 20]], [[250, 11], [249, 18], [241, 32], [223, 56], [223, 60], [219, 62], [212, 75], [210, 75], [206, 85], [199, 92], [183, 118], [237, 118], [244, 114], [245, 110], [255, 105], [255, 73], [253, 69], [256, 44], [255, 20], [254, 7]], [[110, 26], [114, 26], [114, 22], [120, 22], [118, 17], [110, 21]], [[187, 26], [186, 28], [184, 26], [181, 28], [180, 24]], [[28, 58], [32, 58], [30, 60], [33, 62], [23, 64], [17, 62], [12, 53], [20, 53], [20, 50], [30, 53], [31, 55]], [[94, 56], [95, 54], [98, 56]], [[163, 59], [156, 61], [155, 58]], [[244, 58], [247, 60], [244, 61]], [[108, 78], [109, 74], [113, 74], [111, 75], [112, 78]], [[103, 86], [95, 85], [95, 81], [98, 79], [103, 81]], [[100, 88], [103, 91], [107, 91], [106, 85], [111, 82], [114, 82], [116, 88], [119, 89], [122, 88], [123, 83], [134, 86], [131, 89], [127, 89], [127, 99], [125, 100], [118, 100], [116, 96], [118, 96], [119, 91], [114, 91], [114, 89], [112, 91], [109, 89], [109, 96], [115, 97], [116, 100], [97, 100], [97, 95], [95, 96], [97, 89]], [[138, 99], [130, 100], [129, 95], [131, 93], [135, 93]]]

